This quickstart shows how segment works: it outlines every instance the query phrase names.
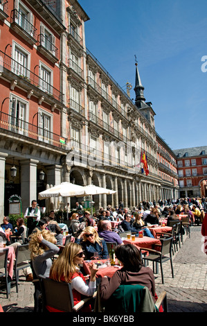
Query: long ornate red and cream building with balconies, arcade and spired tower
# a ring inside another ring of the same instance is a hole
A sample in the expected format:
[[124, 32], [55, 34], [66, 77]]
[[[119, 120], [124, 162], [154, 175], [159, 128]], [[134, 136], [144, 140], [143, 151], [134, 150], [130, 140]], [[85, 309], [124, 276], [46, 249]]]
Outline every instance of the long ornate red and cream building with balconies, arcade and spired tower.
[[[24, 212], [39, 191], [64, 181], [117, 190], [94, 196], [96, 208], [175, 195], [174, 155], [156, 134], [138, 66], [134, 103], [87, 49], [88, 20], [77, 0], [1, 4], [1, 216], [12, 194], [21, 196]], [[161, 166], [158, 143], [170, 153], [170, 172]], [[141, 173], [141, 153], [148, 175]], [[73, 207], [77, 198], [59, 198], [55, 207], [69, 200]]]

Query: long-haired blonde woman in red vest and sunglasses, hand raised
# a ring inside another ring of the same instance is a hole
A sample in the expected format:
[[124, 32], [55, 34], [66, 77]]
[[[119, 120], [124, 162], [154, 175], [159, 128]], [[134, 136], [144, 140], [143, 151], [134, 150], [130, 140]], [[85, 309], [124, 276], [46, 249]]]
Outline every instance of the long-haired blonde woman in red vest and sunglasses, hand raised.
[[[71, 284], [74, 304], [80, 302], [84, 296], [91, 296], [96, 291], [96, 264], [90, 263], [90, 282], [87, 285], [84, 275], [80, 273], [79, 265], [83, 264], [84, 253], [78, 243], [70, 242], [62, 251], [62, 254], [54, 261], [51, 267], [50, 278], [57, 282]], [[54, 311], [47, 307], [49, 311]], [[81, 312], [91, 311], [91, 307], [81, 309]]]

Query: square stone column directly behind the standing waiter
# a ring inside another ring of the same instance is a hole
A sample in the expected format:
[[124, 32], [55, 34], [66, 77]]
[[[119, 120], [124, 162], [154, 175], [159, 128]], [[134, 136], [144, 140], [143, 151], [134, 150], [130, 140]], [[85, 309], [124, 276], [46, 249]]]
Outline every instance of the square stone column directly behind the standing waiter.
[[21, 161], [21, 207], [22, 213], [31, 205], [32, 200], [38, 200], [37, 194], [37, 160]]

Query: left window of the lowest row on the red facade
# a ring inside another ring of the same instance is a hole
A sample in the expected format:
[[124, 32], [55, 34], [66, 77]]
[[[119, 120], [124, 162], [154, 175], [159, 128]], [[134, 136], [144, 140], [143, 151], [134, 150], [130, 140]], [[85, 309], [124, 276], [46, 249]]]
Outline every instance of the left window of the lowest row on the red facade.
[[28, 102], [12, 95], [10, 108], [10, 130], [18, 132], [21, 135], [25, 135], [26, 130], [28, 129], [28, 124], [26, 123], [27, 106]]

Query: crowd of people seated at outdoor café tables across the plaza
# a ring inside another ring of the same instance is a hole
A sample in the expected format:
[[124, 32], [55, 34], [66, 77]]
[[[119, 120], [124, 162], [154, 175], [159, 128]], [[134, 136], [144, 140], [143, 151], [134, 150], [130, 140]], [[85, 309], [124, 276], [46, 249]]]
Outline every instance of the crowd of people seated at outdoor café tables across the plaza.
[[[25, 218], [17, 219], [17, 226], [13, 228], [10, 218], [5, 216], [0, 228], [1, 237], [6, 232], [21, 237], [21, 243], [28, 243], [30, 259], [35, 277], [44, 275], [57, 282], [69, 282], [72, 286], [74, 304], [82, 296], [93, 295], [97, 288], [96, 273], [98, 268], [93, 264], [93, 259], [107, 259], [109, 251], [107, 242], [116, 243], [116, 257], [123, 268], [114, 276], [103, 277], [100, 280], [100, 295], [102, 300], [108, 300], [120, 284], [141, 284], [147, 286], [155, 300], [154, 275], [150, 268], [144, 267], [141, 255], [136, 246], [125, 245], [120, 237], [120, 232], [131, 231], [136, 233], [143, 230], [145, 237], [154, 237], [147, 225], [158, 225], [161, 218], [168, 221], [176, 220], [178, 214], [186, 214], [191, 225], [202, 222], [206, 212], [206, 198], [179, 198], [177, 200], [158, 200], [148, 202], [143, 200], [139, 205], [130, 210], [120, 203], [118, 207], [107, 209], [100, 207], [91, 216], [88, 210], [83, 211], [82, 205], [76, 203], [75, 209], [67, 205], [67, 225], [69, 233], [73, 234], [73, 242], [63, 246], [63, 234], [60, 225], [55, 221], [55, 211], [48, 216], [41, 217], [38, 213], [37, 201], [33, 200], [31, 207], [26, 210]], [[118, 221], [115, 228], [111, 221]], [[27, 224], [27, 225], [26, 225]], [[22, 240], [23, 239], [23, 240]], [[12, 243], [7, 243], [7, 246]], [[60, 254], [60, 248], [63, 250]], [[53, 257], [57, 259], [53, 261]], [[89, 268], [91, 275], [89, 282], [85, 280], [80, 264], [84, 259], [91, 260]], [[49, 311], [53, 311], [48, 307]], [[90, 311], [91, 307], [87, 307]]]

